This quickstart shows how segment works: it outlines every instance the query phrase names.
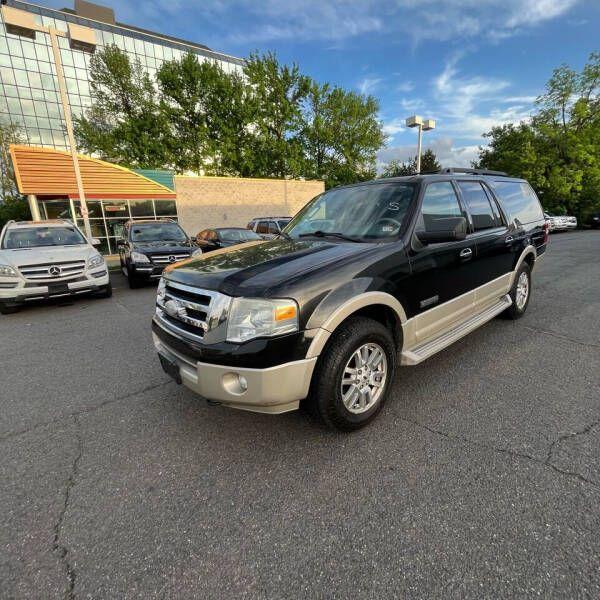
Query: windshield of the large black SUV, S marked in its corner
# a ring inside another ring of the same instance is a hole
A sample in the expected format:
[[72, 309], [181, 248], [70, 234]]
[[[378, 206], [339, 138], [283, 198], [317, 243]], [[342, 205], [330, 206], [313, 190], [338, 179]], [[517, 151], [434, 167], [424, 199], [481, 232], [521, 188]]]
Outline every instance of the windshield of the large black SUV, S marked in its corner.
[[357, 241], [391, 239], [402, 229], [415, 189], [413, 183], [395, 182], [330, 190], [309, 202], [285, 233], [291, 237], [343, 234]]

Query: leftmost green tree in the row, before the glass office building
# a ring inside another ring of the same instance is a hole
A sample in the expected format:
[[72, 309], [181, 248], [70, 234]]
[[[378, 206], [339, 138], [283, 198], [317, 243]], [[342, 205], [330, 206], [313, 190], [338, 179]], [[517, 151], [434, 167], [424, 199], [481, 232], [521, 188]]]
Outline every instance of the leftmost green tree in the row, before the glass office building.
[[127, 167], [166, 166], [167, 124], [139, 60], [116, 45], [90, 60], [92, 106], [75, 119], [79, 147]]

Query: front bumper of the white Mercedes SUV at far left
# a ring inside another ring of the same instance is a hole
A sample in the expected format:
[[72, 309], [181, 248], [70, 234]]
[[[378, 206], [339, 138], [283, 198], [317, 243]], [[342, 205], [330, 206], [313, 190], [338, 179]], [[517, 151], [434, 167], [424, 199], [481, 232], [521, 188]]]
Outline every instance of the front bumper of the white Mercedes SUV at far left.
[[[83, 275], [74, 278], [74, 280], [46, 280], [34, 282], [26, 280], [23, 277], [3, 277], [0, 278], [0, 301], [11, 304], [22, 304], [29, 300], [85, 294], [87, 292], [99, 291], [106, 287], [109, 282], [108, 269], [104, 265], [86, 271]], [[49, 286], [55, 284], [64, 284], [66, 285], [66, 289], [53, 291], [55, 288]]]

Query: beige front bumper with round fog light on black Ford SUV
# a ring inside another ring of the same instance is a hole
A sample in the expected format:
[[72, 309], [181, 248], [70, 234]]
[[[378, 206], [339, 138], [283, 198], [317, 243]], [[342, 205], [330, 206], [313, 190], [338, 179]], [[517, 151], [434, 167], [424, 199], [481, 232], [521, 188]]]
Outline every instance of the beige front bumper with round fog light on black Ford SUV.
[[[317, 358], [265, 369], [240, 368], [195, 361], [165, 344], [155, 333], [154, 346], [179, 368], [182, 383], [203, 398], [231, 408], [279, 414], [296, 410], [308, 396]], [[244, 378], [246, 386], [240, 385]]]

